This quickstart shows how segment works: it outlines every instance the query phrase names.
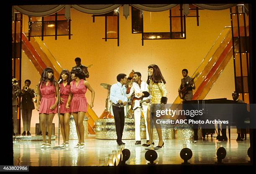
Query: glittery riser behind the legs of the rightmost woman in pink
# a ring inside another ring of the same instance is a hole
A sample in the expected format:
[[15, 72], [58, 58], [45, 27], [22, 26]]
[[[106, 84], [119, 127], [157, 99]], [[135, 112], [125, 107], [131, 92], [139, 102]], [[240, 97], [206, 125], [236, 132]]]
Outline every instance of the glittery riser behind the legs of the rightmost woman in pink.
[[[84, 124], [84, 139], [85, 139], [85, 138], [87, 138], [87, 135], [88, 135], [88, 131], [87, 131], [88, 130], [88, 118], [87, 117], [84, 117], [83, 124]], [[74, 122], [74, 118], [72, 115], [69, 119], [69, 128], [70, 128], [69, 139], [78, 139], [76, 124]]]

